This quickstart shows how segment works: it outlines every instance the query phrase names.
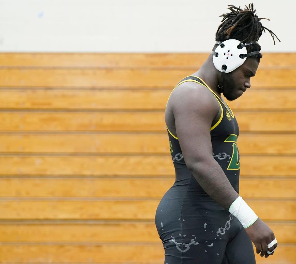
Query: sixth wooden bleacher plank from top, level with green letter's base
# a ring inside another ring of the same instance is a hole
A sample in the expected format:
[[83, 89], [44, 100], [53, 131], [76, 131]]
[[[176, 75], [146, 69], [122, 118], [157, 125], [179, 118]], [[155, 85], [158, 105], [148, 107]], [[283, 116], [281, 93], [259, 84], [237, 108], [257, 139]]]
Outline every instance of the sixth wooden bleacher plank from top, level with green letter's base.
[[[0, 156], [1, 176], [172, 176], [168, 154], [100, 156]], [[116, 164], [116, 166], [114, 166]], [[241, 155], [241, 176], [295, 176], [294, 156]]]

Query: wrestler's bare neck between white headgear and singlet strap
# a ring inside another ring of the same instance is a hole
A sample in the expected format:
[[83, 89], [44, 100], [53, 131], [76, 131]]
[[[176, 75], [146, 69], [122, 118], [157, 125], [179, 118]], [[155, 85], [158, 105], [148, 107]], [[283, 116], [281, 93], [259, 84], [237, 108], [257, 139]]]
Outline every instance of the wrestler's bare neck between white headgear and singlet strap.
[[217, 95], [221, 95], [221, 91], [218, 87], [221, 72], [215, 68], [212, 54], [209, 55], [207, 60], [194, 75], [202, 78]]

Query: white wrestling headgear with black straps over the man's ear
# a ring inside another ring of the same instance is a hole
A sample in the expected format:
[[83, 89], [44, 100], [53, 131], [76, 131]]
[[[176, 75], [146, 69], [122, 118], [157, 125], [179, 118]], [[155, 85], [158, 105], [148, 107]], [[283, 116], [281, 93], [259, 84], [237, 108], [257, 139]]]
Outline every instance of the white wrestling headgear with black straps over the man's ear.
[[213, 48], [211, 52], [214, 55], [213, 63], [216, 69], [224, 73], [231, 72], [241, 66], [247, 57], [259, 54], [259, 50], [247, 53], [246, 46], [254, 43], [257, 42], [242, 43], [237, 39], [228, 39], [223, 42], [216, 41], [218, 46], [215, 51]]

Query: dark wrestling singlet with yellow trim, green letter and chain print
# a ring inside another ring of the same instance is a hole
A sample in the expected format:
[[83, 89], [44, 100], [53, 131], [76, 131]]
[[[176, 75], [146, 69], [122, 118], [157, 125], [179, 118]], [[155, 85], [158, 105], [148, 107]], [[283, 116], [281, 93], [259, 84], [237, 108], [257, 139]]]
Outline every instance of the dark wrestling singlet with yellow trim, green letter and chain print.
[[[213, 157], [239, 193], [240, 155], [236, 143], [239, 127], [236, 118], [229, 106], [196, 76], [184, 78], [175, 88], [192, 81], [211, 90], [220, 104], [220, 118], [210, 131]], [[245, 229], [236, 217], [203, 190], [186, 166], [177, 135], [168, 128], [167, 132], [175, 182], [162, 197], [155, 214], [155, 225], [165, 252], [164, 263], [254, 264], [252, 241]]]

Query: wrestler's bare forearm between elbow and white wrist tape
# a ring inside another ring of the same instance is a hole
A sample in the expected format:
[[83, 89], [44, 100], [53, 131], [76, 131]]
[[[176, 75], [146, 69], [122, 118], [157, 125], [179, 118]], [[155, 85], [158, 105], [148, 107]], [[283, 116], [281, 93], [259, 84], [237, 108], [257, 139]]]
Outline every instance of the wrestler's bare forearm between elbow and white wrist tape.
[[190, 170], [204, 191], [226, 210], [239, 196], [214, 159], [195, 163]]

